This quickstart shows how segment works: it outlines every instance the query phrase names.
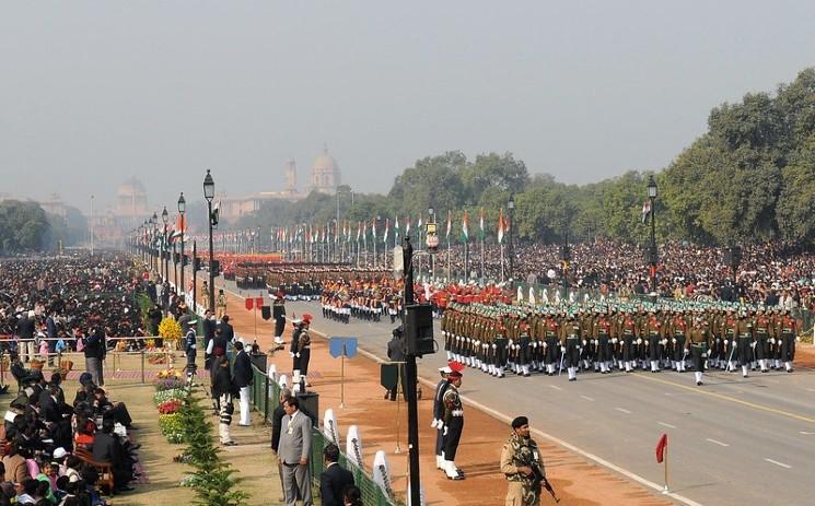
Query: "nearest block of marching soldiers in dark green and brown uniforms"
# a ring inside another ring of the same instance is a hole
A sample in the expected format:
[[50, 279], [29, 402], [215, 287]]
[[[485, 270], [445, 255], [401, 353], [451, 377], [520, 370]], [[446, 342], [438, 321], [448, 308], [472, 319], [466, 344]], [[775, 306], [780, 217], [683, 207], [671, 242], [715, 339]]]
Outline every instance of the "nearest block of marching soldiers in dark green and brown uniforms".
[[496, 377], [615, 369], [792, 372], [801, 323], [783, 308], [727, 303], [528, 308], [453, 303], [441, 323], [449, 361]]

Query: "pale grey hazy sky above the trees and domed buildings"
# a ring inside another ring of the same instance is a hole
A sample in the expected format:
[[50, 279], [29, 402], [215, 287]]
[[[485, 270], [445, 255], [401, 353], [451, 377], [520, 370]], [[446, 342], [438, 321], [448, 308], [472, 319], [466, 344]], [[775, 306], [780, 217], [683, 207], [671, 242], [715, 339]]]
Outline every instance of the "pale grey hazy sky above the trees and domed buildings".
[[586, 183], [659, 169], [711, 107], [815, 64], [813, 1], [2, 1], [0, 192], [82, 210], [139, 177], [304, 187], [327, 143], [386, 191], [417, 158], [510, 151]]

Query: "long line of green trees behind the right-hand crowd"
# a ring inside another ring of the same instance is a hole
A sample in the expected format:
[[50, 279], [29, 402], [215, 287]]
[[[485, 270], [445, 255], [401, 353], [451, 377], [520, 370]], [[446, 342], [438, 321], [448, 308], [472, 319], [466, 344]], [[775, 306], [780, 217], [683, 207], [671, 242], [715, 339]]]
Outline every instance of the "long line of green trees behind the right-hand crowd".
[[[815, 69], [806, 69], [772, 93], [748, 93], [735, 104], [711, 110], [707, 131], [667, 166], [656, 172], [630, 170], [589, 185], [567, 185], [548, 174], [531, 175], [512, 153], [479, 154], [468, 160], [458, 151], [428, 156], [406, 168], [387, 195], [354, 193], [340, 186], [337, 196], [313, 192], [291, 203], [269, 201], [243, 217], [237, 228], [270, 230], [299, 223], [328, 224], [336, 219], [358, 223], [380, 216], [392, 227], [433, 208], [441, 233], [447, 213], [451, 237], [458, 237], [465, 210], [470, 238], [485, 214], [487, 240], [494, 240], [499, 210], [509, 214], [515, 201], [513, 234], [540, 243], [607, 238], [643, 244], [650, 230], [642, 223], [647, 184], [654, 176], [659, 197], [660, 240], [729, 245], [815, 238]], [[380, 225], [381, 226], [381, 225]], [[401, 225], [405, 226], [404, 224]]]

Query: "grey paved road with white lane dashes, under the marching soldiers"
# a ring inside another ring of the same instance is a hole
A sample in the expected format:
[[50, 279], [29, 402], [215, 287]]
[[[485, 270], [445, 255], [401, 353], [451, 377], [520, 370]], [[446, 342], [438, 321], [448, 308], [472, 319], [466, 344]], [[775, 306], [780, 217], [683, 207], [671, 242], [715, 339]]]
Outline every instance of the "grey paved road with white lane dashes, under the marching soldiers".
[[[318, 332], [360, 338], [362, 349], [386, 360], [387, 318], [344, 325], [324, 319], [317, 303], [287, 308], [314, 315]], [[419, 362], [419, 375], [435, 383], [445, 355]], [[586, 373], [569, 383], [566, 375], [497, 379], [468, 369], [462, 392], [508, 416], [526, 414], [533, 428], [660, 485], [654, 447], [667, 433], [671, 490], [700, 504], [813, 504], [815, 372], [706, 377], [697, 387], [692, 373]]]

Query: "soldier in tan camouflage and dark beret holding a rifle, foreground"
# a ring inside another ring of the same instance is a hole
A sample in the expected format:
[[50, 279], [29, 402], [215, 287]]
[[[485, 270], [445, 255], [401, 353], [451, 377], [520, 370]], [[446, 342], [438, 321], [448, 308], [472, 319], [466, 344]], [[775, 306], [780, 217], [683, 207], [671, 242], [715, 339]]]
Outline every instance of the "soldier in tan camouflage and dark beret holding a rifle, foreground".
[[507, 476], [507, 506], [537, 506], [540, 504], [540, 481], [544, 461], [537, 444], [529, 437], [526, 416], [512, 421], [512, 435], [501, 449], [501, 472]]

